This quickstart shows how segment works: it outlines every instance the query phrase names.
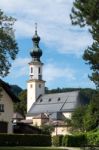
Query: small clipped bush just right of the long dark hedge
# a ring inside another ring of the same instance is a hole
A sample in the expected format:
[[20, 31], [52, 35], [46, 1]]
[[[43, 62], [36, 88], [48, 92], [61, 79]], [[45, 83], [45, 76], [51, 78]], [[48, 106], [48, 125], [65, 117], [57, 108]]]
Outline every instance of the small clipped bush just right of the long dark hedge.
[[52, 145], [53, 146], [62, 146], [62, 138], [63, 135], [57, 135], [52, 137]]

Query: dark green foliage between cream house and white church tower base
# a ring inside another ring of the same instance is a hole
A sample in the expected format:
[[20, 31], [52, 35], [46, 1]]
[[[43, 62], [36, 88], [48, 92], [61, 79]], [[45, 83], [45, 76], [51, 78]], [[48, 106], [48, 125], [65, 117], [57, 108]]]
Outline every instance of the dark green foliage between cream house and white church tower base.
[[25, 117], [26, 114], [26, 106], [27, 106], [27, 90], [23, 90], [19, 94], [20, 102], [15, 104], [15, 111], [19, 112]]

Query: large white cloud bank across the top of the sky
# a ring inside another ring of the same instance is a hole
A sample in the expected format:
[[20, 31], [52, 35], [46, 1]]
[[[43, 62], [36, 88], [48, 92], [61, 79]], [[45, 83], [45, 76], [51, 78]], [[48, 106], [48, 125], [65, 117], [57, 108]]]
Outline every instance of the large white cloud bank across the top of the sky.
[[34, 23], [38, 22], [38, 32], [45, 45], [59, 53], [80, 55], [92, 40], [86, 29], [81, 32], [79, 27], [71, 25], [69, 14], [72, 2], [73, 0], [3, 0], [0, 7], [17, 18], [17, 38], [32, 37]]

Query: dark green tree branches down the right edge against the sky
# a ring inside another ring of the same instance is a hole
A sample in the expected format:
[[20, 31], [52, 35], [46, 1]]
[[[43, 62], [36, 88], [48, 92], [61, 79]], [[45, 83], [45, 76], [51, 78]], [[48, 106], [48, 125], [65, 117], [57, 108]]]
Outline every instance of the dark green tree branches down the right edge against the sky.
[[90, 79], [99, 88], [99, 0], [75, 0], [70, 17], [73, 25], [89, 27], [93, 44], [85, 50], [83, 58], [93, 71]]

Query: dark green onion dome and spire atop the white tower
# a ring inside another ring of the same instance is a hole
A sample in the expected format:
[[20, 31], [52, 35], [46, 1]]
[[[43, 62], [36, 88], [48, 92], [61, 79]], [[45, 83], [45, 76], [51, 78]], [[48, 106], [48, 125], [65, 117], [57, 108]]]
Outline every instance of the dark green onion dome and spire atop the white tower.
[[35, 34], [32, 38], [32, 41], [34, 47], [30, 52], [30, 55], [33, 58], [33, 61], [40, 61], [40, 57], [42, 56], [42, 50], [39, 47], [40, 37], [37, 34], [37, 23], [35, 23]]

